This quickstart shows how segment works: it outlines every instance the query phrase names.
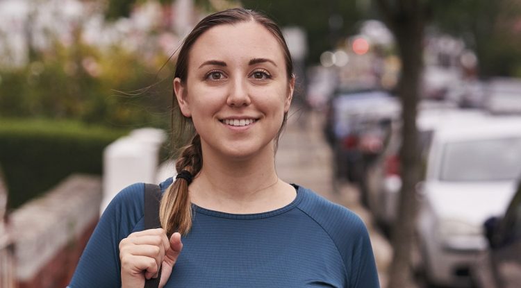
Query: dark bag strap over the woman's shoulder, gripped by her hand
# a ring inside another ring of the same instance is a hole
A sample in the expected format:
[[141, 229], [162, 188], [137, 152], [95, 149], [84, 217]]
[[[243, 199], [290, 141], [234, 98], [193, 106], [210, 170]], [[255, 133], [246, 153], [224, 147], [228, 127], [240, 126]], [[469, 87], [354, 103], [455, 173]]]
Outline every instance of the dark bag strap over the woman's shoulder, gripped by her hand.
[[[158, 185], [144, 184], [144, 229], [160, 228], [159, 201], [161, 189]], [[161, 267], [159, 267], [158, 278], [150, 278], [144, 281], [144, 288], [158, 288], [161, 279]]]

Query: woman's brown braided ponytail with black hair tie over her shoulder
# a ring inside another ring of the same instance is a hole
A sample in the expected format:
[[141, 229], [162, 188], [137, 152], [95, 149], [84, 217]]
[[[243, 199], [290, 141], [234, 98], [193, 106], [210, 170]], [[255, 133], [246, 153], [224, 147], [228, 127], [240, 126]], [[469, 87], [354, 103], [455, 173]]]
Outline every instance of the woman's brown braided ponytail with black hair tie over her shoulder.
[[[176, 170], [178, 173], [185, 170], [196, 176], [201, 171], [202, 163], [201, 138], [196, 134], [190, 144], [181, 150], [176, 161]], [[192, 227], [192, 205], [188, 195], [188, 184], [184, 179], [176, 179], [161, 199], [159, 219], [167, 235], [174, 232], [186, 235]]]

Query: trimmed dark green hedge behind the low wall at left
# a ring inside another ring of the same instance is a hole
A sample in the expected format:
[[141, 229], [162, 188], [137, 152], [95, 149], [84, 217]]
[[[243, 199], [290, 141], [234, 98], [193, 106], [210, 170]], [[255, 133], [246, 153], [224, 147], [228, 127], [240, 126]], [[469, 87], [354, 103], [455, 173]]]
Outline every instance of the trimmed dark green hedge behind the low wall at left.
[[71, 173], [101, 175], [104, 148], [126, 132], [76, 121], [0, 119], [0, 164], [10, 208]]

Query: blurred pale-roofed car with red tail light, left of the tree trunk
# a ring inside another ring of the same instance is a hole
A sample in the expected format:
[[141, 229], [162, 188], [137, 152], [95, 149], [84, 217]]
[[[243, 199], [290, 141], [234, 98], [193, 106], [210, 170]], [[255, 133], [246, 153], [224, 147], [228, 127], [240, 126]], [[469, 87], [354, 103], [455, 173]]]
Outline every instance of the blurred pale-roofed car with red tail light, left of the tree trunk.
[[388, 92], [338, 92], [329, 103], [324, 127], [333, 149], [336, 179], [357, 183], [367, 155], [381, 152], [388, 123], [399, 114], [399, 103]]

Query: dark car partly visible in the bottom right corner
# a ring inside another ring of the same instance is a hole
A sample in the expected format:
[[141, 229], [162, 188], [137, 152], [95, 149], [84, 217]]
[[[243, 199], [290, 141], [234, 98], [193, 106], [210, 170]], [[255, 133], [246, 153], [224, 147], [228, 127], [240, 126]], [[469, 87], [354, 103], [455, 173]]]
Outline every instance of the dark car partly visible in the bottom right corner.
[[484, 224], [489, 249], [473, 266], [479, 288], [518, 288], [521, 285], [521, 180], [504, 217]]

